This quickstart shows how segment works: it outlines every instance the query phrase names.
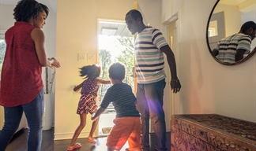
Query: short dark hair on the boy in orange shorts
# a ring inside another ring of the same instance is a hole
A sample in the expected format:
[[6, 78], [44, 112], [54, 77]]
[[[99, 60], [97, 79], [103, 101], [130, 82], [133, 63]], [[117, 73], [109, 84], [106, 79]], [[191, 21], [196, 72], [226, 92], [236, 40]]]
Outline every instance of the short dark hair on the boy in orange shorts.
[[126, 67], [122, 62], [115, 62], [111, 64], [108, 69], [108, 75], [112, 79], [123, 80], [126, 76]]

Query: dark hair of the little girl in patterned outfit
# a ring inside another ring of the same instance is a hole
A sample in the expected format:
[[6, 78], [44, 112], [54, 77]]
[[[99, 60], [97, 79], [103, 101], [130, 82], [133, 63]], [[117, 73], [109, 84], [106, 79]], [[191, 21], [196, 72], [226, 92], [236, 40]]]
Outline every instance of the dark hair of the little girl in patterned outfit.
[[96, 64], [87, 65], [80, 69], [80, 76], [85, 76], [85, 79], [96, 79], [100, 76], [100, 66]]

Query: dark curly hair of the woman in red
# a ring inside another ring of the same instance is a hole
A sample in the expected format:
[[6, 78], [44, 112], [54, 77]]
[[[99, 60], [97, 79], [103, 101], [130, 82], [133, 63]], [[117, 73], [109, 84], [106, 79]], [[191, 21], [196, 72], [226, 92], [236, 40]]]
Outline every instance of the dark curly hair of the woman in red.
[[13, 9], [14, 19], [17, 21], [25, 21], [33, 17], [36, 18], [40, 12], [45, 11], [48, 16], [49, 9], [47, 6], [36, 2], [35, 0], [21, 0], [17, 3], [17, 6]]

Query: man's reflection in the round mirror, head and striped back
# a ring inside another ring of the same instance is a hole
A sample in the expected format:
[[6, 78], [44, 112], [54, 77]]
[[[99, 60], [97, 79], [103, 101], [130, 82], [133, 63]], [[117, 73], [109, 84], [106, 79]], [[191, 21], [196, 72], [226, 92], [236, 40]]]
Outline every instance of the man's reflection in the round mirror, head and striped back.
[[255, 38], [256, 24], [248, 21], [242, 25], [239, 33], [221, 39], [213, 50], [217, 59], [227, 63], [235, 63], [250, 53], [250, 43]]

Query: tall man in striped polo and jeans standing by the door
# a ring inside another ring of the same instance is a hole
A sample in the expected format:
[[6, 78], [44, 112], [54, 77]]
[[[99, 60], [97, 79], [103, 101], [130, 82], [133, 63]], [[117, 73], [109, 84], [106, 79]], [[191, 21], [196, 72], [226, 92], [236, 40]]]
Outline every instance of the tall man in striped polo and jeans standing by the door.
[[175, 56], [162, 33], [143, 23], [141, 13], [136, 9], [126, 13], [126, 24], [134, 35], [135, 65], [137, 76], [137, 109], [141, 113], [141, 147], [149, 150], [149, 117], [156, 134], [156, 150], [167, 150], [164, 120], [163, 95], [165, 87], [164, 53], [171, 70], [171, 89], [179, 92], [181, 85], [176, 74]]

